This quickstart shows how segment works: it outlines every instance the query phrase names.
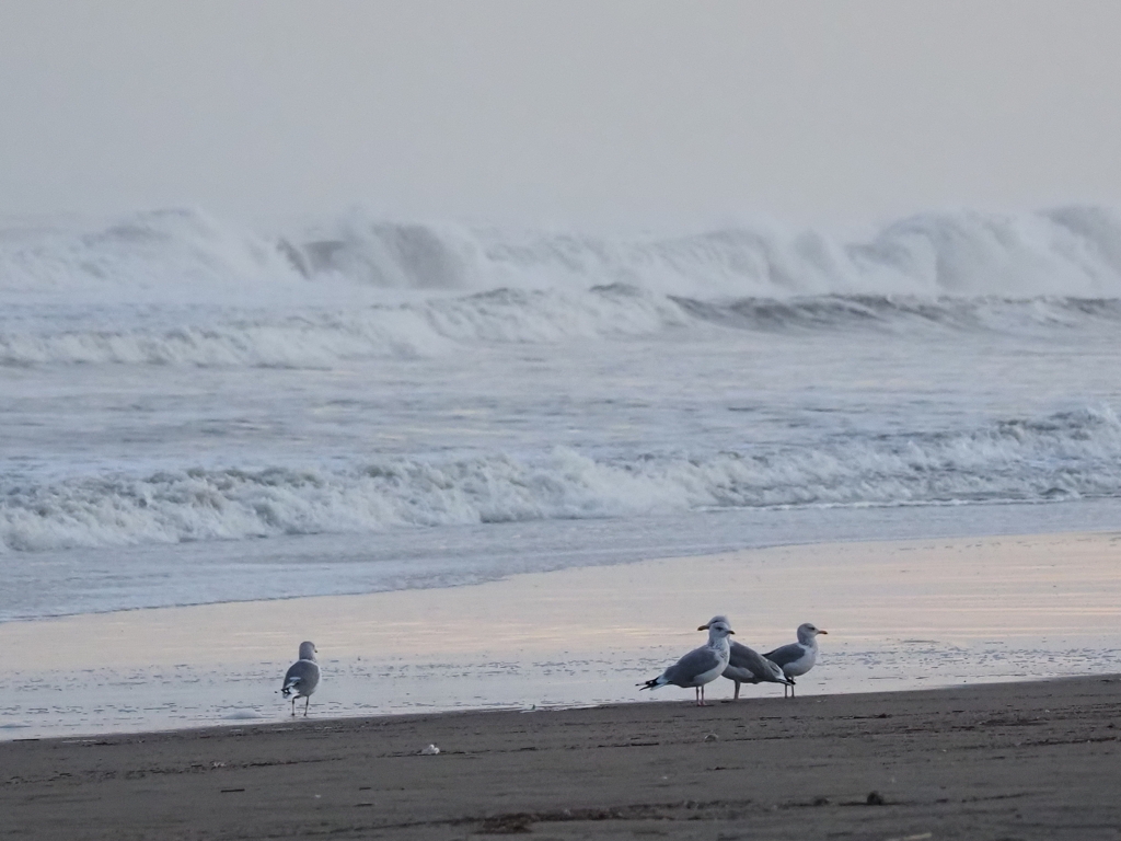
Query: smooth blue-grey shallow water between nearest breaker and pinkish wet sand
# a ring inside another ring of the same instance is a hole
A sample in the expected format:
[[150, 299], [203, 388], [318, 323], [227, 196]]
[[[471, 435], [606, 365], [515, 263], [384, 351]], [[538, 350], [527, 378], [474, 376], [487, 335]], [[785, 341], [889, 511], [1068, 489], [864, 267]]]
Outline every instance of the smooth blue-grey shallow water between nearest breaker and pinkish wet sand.
[[574, 520], [565, 526], [532, 520], [451, 532], [405, 529], [370, 536], [372, 543], [324, 534], [34, 553], [9, 558], [15, 579], [7, 579], [10, 586], [0, 591], [0, 623], [443, 589], [568, 567], [782, 546], [1097, 533], [1109, 530], [1103, 524], [1121, 523], [1119, 502], [735, 509], [679, 520]]

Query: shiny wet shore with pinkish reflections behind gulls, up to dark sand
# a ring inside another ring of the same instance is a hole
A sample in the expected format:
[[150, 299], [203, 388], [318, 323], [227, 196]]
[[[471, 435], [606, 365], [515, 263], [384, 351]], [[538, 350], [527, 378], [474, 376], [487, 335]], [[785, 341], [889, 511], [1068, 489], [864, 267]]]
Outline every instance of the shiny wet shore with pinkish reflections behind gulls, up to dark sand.
[[759, 650], [802, 621], [828, 630], [807, 695], [1121, 672], [1119, 556], [1109, 532], [809, 544], [7, 622], [0, 740], [281, 720], [276, 691], [303, 639], [324, 672], [313, 714], [331, 718], [692, 696], [640, 701], [634, 684], [700, 645], [693, 629], [717, 612]]

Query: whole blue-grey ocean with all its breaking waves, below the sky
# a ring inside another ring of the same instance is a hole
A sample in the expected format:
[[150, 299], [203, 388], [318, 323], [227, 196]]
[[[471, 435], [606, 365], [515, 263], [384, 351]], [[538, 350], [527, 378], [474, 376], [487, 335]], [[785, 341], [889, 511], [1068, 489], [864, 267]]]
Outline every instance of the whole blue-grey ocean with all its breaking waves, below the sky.
[[0, 621], [1121, 523], [1111, 210], [281, 228], [0, 220]]

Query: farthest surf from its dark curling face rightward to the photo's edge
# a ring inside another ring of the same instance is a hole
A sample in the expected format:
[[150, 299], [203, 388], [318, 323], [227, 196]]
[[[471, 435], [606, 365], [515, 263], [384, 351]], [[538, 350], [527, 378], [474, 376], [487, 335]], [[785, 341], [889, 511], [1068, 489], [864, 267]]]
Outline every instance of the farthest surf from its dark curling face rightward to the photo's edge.
[[864, 242], [777, 227], [610, 237], [471, 231], [354, 215], [321, 238], [285, 240], [307, 276], [379, 286], [630, 284], [697, 297], [1121, 293], [1121, 219], [1096, 207], [1041, 213], [926, 213]]

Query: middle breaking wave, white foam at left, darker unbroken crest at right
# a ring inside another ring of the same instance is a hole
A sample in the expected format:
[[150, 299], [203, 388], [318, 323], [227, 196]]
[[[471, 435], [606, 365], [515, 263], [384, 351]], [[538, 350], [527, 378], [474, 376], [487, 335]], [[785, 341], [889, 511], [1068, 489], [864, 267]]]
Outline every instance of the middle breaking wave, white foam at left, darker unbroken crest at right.
[[[436, 358], [470, 343], [555, 344], [687, 329], [757, 332], [1117, 330], [1119, 298], [818, 296], [702, 301], [626, 285], [584, 292], [495, 289], [414, 304], [300, 313], [185, 312], [127, 329], [0, 320], [0, 364], [182, 364], [330, 368], [346, 359]], [[59, 329], [62, 327], [62, 329]]]

